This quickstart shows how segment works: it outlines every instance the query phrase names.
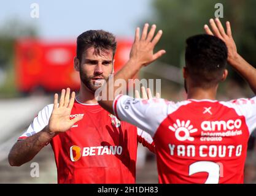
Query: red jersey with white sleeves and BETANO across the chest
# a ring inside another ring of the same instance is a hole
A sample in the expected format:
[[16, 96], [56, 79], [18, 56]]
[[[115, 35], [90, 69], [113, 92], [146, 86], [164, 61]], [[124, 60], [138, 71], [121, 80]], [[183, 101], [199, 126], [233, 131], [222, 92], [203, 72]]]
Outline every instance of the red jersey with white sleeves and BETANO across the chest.
[[[39, 111], [18, 140], [44, 129], [53, 104]], [[154, 151], [152, 137], [119, 121], [100, 105], [75, 102], [70, 118], [82, 115], [71, 129], [53, 137], [58, 183], [135, 183], [138, 141]]]

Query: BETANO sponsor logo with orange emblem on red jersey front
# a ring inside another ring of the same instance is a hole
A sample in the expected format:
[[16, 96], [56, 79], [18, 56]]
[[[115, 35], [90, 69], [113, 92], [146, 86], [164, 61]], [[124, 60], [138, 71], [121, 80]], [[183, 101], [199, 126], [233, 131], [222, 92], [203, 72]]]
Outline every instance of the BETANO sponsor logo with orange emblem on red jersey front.
[[91, 146], [80, 148], [79, 146], [70, 147], [70, 159], [72, 162], [76, 162], [81, 157], [87, 156], [103, 156], [111, 154], [122, 154], [122, 146]]

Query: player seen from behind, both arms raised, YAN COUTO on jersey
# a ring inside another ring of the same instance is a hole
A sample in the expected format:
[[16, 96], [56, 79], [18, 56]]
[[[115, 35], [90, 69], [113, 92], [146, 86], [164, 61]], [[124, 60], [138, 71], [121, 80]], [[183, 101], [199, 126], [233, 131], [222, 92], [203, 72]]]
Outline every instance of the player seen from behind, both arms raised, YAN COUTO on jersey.
[[[247, 141], [256, 127], [256, 97], [229, 102], [215, 100], [226, 62], [256, 93], [256, 69], [236, 51], [230, 23], [227, 33], [219, 19], [210, 20], [207, 35], [187, 39], [183, 70], [187, 100], [133, 99], [118, 95], [99, 104], [118, 119], [149, 132], [155, 141], [159, 183], [243, 183]], [[153, 37], [145, 25], [136, 30], [130, 60], [114, 76], [128, 80], [165, 51], [153, 53], [161, 31]], [[113, 81], [113, 82], [114, 82]], [[111, 81], [104, 88], [113, 85]]]

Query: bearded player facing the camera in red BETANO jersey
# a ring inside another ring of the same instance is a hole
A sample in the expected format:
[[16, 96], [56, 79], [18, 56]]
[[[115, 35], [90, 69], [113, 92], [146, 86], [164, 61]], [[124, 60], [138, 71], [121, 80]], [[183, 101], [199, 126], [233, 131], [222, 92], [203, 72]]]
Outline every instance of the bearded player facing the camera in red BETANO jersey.
[[106, 31], [86, 31], [77, 37], [74, 68], [80, 91], [61, 91], [60, 103], [39, 111], [9, 153], [9, 163], [20, 166], [52, 145], [58, 183], [135, 183], [138, 141], [154, 151], [152, 138], [118, 120], [95, 99], [97, 85], [114, 71], [117, 42]]

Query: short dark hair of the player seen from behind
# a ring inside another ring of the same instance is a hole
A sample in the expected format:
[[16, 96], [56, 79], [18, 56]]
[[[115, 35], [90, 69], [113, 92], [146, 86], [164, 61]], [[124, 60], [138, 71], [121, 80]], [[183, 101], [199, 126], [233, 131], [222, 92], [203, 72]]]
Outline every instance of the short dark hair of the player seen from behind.
[[228, 49], [221, 39], [207, 34], [186, 40], [185, 61], [194, 85], [209, 88], [222, 79], [227, 64]]

